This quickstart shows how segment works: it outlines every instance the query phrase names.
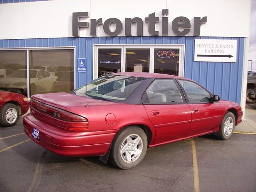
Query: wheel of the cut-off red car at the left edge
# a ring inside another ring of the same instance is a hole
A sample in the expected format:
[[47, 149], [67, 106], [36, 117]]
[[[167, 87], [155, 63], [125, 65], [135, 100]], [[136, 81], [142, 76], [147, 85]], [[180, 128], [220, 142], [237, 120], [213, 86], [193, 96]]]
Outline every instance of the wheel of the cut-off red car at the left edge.
[[18, 107], [12, 103], [7, 103], [0, 110], [0, 125], [4, 127], [14, 126], [19, 118]]

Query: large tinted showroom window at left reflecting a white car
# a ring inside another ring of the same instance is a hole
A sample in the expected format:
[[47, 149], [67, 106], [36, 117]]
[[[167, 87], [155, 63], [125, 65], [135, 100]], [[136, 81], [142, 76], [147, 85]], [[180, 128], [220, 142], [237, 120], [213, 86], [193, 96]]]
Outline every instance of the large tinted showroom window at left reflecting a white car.
[[0, 50], [0, 90], [28, 98], [32, 94], [71, 91], [74, 54], [74, 47]]

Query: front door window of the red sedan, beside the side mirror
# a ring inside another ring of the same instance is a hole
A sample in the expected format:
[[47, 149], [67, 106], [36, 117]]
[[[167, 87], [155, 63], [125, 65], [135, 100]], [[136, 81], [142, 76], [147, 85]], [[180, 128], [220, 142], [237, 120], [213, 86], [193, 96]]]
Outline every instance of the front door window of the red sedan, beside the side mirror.
[[186, 81], [186, 80], [179, 80], [179, 82], [186, 92], [186, 95], [189, 100], [188, 102], [190, 103], [212, 102], [212, 98], [210, 94], [198, 84], [191, 81]]

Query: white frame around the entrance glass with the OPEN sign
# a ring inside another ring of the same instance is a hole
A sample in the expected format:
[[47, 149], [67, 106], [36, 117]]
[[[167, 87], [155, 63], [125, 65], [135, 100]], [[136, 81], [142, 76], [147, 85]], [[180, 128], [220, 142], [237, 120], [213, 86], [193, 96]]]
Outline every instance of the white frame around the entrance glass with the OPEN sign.
[[121, 72], [126, 68], [126, 49], [150, 49], [149, 72], [154, 73], [154, 49], [179, 49], [179, 74], [184, 76], [185, 44], [94, 44], [93, 45], [93, 80], [98, 78], [98, 50], [122, 49]]

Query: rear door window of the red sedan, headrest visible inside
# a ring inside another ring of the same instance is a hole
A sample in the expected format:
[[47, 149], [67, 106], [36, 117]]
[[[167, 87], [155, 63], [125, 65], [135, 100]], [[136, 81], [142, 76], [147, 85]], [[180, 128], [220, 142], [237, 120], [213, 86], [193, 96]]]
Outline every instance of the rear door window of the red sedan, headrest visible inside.
[[142, 98], [143, 103], [182, 103], [180, 90], [172, 79], [154, 80]]

